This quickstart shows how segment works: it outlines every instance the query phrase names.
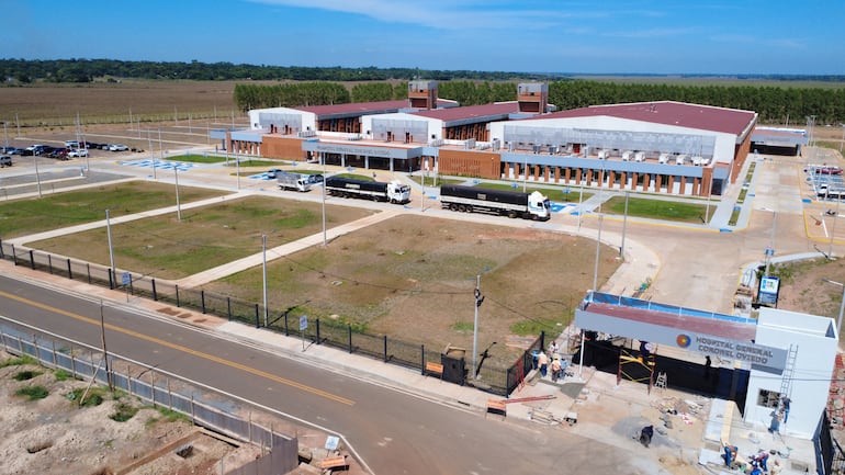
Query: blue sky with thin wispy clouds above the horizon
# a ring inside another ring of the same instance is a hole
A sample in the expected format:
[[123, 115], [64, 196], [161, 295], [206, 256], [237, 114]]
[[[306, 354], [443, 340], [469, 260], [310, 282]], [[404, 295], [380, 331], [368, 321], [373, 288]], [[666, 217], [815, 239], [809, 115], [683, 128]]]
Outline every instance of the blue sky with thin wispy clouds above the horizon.
[[842, 0], [0, 0], [0, 58], [845, 75]]

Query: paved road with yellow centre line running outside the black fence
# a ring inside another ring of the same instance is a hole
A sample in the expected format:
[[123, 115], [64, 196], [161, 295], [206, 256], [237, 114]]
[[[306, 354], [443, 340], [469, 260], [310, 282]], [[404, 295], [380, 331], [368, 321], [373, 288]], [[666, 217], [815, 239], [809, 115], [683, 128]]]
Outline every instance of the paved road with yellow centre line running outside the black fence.
[[[0, 276], [0, 315], [100, 346], [98, 302]], [[484, 418], [329, 371], [330, 362], [279, 358], [132, 308], [108, 306], [104, 320], [110, 352], [343, 433], [376, 474], [610, 475], [631, 465], [631, 453], [594, 439]]]

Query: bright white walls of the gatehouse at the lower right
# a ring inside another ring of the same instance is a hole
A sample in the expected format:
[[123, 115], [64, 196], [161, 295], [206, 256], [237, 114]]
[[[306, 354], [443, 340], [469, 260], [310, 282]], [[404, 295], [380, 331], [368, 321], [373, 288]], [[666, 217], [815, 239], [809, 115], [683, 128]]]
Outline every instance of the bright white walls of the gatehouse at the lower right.
[[[822, 411], [827, 406], [827, 394], [836, 359], [837, 336], [832, 318], [776, 308], [760, 307], [757, 325], [758, 344], [798, 352], [792, 374], [789, 420], [780, 431], [792, 437], [811, 439]], [[780, 392], [782, 377], [752, 370], [745, 402], [744, 420], [766, 430], [771, 420], [771, 408], [757, 405], [760, 389]]]

